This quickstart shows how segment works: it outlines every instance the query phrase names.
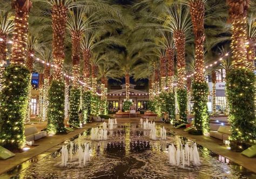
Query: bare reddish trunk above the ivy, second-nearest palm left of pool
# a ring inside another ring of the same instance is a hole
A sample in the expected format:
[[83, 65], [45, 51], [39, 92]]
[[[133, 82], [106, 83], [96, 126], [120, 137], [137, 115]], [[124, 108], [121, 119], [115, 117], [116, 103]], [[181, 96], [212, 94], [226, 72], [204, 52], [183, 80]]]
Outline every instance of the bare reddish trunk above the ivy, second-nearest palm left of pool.
[[52, 6], [52, 55], [53, 62], [57, 65], [55, 73], [53, 73], [54, 80], [62, 79], [62, 68], [65, 58], [65, 30], [66, 30], [66, 16], [68, 9], [63, 5]]

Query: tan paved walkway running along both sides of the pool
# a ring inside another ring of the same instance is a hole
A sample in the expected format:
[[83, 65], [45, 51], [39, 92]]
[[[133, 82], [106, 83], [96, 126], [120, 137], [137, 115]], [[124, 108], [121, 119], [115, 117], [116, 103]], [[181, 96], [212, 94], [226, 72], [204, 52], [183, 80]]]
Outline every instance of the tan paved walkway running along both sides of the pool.
[[[130, 123], [130, 122], [139, 122], [139, 118], [120, 118], [117, 119], [118, 123]], [[2, 160], [0, 161], [0, 174], [5, 173], [6, 171], [10, 170], [11, 168], [14, 168], [18, 164], [21, 164], [25, 161], [28, 161], [32, 157], [38, 156], [38, 158], [44, 157], [45, 152], [47, 151], [48, 153], [56, 151], [59, 149], [61, 146], [62, 142], [65, 140], [68, 140], [75, 135], [82, 133], [85, 131], [87, 128], [91, 128], [93, 126], [98, 125], [99, 123], [90, 123], [86, 124], [83, 128], [77, 129], [74, 132], [70, 132], [68, 134], [63, 134], [63, 135], [53, 135], [51, 137], [45, 137], [43, 139], [37, 140], [35, 142], [35, 145], [38, 145], [36, 147], [31, 148], [29, 151], [23, 152], [23, 153], [17, 153], [16, 156], [8, 159], [8, 160]], [[184, 132], [183, 130], [177, 130], [174, 129], [171, 125], [169, 124], [164, 124], [164, 123], [158, 123], [161, 125], [164, 125], [166, 128], [169, 128], [170, 130], [178, 133], [179, 135], [183, 135], [184, 137], [197, 142], [199, 145], [204, 146], [210, 151], [213, 151], [214, 153], [217, 153], [219, 155], [222, 155], [226, 157], [227, 159], [230, 159], [234, 161], [235, 163], [240, 164], [241, 166], [254, 171], [256, 173], [256, 157], [254, 158], [248, 158], [246, 156], [241, 155], [240, 153], [237, 152], [232, 152], [228, 150], [226, 147], [221, 146], [222, 141], [218, 139], [214, 139], [208, 136], [200, 136], [200, 135], [190, 135], [187, 132]], [[46, 123], [43, 124], [34, 124], [38, 127], [38, 129], [43, 129], [46, 127]], [[30, 125], [28, 125], [30, 126]], [[44, 154], [43, 154], [44, 153]], [[39, 155], [41, 154], [41, 155]], [[27, 166], [28, 167], [28, 166]], [[2, 176], [1, 176], [2, 178]], [[4, 177], [3, 177], [4, 178]]]

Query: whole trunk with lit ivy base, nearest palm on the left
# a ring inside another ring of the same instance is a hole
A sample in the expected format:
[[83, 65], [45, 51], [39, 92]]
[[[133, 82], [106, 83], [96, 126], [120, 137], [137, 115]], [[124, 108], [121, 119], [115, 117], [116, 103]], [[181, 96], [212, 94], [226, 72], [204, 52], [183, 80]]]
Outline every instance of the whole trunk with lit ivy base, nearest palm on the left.
[[25, 61], [28, 54], [28, 17], [31, 6], [29, 0], [12, 2], [15, 10], [12, 64], [4, 73], [0, 108], [0, 145], [9, 149], [25, 145], [24, 121], [30, 84], [30, 72], [25, 67]]

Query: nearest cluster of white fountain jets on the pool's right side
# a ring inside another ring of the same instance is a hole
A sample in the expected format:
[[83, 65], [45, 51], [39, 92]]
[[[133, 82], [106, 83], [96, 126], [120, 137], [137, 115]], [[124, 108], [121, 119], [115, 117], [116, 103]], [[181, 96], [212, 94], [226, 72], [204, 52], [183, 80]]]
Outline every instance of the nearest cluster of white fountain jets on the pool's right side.
[[183, 149], [183, 145], [180, 147], [174, 147], [174, 145], [169, 145], [169, 163], [172, 166], [180, 166], [184, 168], [186, 166], [190, 166], [193, 163], [195, 166], [200, 165], [200, 158], [197, 149], [197, 144], [194, 143], [192, 147], [189, 147], [188, 144], [185, 144], [185, 148]]

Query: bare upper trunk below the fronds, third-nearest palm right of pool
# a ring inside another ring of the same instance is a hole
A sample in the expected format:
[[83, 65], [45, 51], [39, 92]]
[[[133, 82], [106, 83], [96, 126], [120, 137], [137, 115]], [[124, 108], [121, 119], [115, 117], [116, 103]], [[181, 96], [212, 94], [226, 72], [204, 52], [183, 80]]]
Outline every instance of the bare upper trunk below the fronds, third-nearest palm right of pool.
[[185, 42], [186, 37], [183, 31], [175, 31], [173, 34], [174, 43], [177, 49], [177, 70], [178, 70], [178, 89], [184, 89], [185, 85]]

